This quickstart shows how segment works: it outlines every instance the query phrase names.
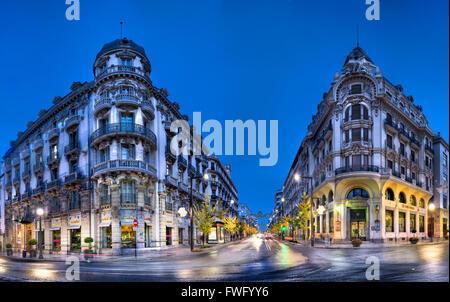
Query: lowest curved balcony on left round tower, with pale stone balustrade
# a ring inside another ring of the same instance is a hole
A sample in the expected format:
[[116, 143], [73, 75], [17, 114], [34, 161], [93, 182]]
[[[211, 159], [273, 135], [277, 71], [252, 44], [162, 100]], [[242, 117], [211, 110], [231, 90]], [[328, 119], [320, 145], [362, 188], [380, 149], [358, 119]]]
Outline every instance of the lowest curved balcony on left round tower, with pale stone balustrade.
[[149, 163], [134, 159], [115, 159], [99, 163], [92, 169], [93, 177], [115, 171], [134, 171], [156, 177], [156, 169]]

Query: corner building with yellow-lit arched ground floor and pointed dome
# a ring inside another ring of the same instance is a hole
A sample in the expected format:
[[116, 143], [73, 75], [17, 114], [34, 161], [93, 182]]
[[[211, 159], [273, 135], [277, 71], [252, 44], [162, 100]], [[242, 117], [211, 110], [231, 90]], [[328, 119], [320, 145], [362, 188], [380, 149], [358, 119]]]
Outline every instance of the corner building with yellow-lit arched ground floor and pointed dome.
[[[359, 46], [336, 72], [283, 186], [284, 209], [310, 194], [316, 238], [402, 242], [428, 237], [434, 134], [422, 107], [393, 85]], [[310, 234], [306, 234], [306, 238]]]

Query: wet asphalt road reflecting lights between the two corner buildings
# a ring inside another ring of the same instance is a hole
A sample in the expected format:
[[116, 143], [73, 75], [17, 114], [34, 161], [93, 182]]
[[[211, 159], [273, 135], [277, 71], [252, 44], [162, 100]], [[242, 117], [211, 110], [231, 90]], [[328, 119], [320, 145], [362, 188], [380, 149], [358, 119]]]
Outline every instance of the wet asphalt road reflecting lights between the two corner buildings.
[[[208, 253], [80, 262], [80, 281], [367, 281], [368, 257], [380, 281], [449, 281], [448, 243], [375, 249], [323, 249], [256, 237]], [[67, 281], [64, 262], [0, 258], [0, 281]]]

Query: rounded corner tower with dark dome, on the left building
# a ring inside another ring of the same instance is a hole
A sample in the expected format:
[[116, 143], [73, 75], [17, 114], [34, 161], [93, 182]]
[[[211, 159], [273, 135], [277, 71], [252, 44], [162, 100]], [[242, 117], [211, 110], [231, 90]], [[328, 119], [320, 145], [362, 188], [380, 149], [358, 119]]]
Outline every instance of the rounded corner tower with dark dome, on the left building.
[[92, 178], [97, 181], [99, 233], [103, 247], [118, 254], [124, 248], [144, 247], [145, 238], [151, 236], [147, 228], [156, 204], [156, 100], [151, 94], [150, 62], [132, 40], [105, 44], [93, 72], [94, 121], [89, 144]]

